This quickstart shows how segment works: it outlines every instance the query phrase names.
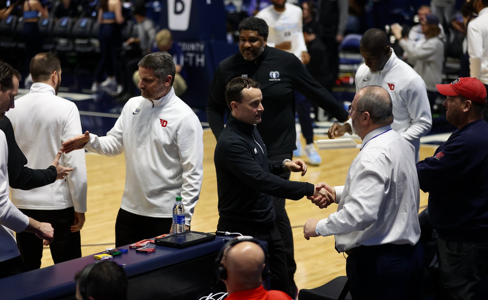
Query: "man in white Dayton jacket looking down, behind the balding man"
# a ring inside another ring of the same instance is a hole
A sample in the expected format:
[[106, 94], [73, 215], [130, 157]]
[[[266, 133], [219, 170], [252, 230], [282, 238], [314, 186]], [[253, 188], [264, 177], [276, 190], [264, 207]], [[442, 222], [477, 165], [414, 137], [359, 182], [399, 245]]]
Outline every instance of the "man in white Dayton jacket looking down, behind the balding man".
[[[356, 72], [356, 92], [365, 86], [381, 86], [393, 102], [391, 128], [415, 147], [415, 161], [419, 161], [420, 138], [432, 127], [432, 115], [424, 80], [412, 67], [400, 60], [389, 46], [386, 33], [377, 28], [366, 30], [359, 50], [365, 59]], [[348, 132], [352, 134], [352, 120], [344, 125], [334, 123], [328, 131], [333, 139]]]

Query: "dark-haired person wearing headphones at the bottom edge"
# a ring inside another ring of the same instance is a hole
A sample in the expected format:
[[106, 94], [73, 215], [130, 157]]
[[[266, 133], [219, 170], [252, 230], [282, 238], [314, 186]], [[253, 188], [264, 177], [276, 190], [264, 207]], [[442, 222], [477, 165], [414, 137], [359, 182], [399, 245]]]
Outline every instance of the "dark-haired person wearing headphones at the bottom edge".
[[127, 275], [110, 260], [86, 265], [75, 275], [77, 300], [127, 300]]

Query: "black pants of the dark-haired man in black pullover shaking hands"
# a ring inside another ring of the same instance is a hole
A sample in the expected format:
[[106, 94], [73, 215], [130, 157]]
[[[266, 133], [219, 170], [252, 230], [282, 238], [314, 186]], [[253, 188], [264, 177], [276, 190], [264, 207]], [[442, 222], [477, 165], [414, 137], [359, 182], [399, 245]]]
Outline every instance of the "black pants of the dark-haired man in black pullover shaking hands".
[[[286, 272], [285, 247], [275, 222], [239, 222], [232, 219], [219, 218], [218, 231], [238, 232], [244, 236], [253, 236], [268, 243], [268, 263], [272, 290], [280, 290], [290, 294]], [[295, 295], [290, 297], [294, 298]]]

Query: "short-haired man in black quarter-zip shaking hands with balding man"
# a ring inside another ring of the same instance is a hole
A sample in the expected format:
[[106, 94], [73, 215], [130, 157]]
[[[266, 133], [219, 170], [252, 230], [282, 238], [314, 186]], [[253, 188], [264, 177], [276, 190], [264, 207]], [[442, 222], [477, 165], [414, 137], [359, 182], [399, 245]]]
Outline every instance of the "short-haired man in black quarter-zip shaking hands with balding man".
[[256, 129], [264, 111], [263, 95], [258, 86], [252, 79], [238, 77], [225, 87], [231, 114], [214, 154], [219, 195], [217, 230], [239, 232], [267, 241], [271, 288], [294, 298], [295, 291], [288, 284], [285, 247], [275, 223], [273, 196], [298, 200], [318, 195], [320, 187], [278, 176], [285, 171], [305, 175], [303, 160], [268, 160], [266, 146]]

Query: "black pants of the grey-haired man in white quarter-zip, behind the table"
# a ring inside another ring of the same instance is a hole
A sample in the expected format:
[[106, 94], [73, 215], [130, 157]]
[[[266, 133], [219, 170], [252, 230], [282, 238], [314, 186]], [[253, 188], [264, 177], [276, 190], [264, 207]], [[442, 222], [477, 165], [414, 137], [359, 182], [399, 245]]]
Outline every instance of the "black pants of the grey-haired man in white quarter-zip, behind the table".
[[173, 218], [155, 218], [132, 214], [121, 208], [115, 221], [115, 247], [168, 234], [172, 225]]

